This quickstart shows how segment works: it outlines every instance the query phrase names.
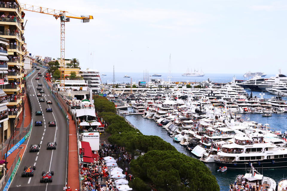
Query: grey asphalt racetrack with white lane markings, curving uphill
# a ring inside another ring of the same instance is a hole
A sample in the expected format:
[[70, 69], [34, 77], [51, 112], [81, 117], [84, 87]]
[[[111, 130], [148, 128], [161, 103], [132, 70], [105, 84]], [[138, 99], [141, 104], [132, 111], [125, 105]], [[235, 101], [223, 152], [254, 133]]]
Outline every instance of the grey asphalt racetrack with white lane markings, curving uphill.
[[[42, 67], [38, 68], [40, 68], [40, 70], [35, 70], [28, 78], [27, 82], [27, 91], [31, 87], [29, 96], [34, 104], [32, 133], [17, 173], [10, 185], [9, 190], [11, 191], [54, 191], [63, 190], [63, 187], [65, 187], [67, 125], [63, 114], [44, 84], [43, 78], [45, 77], [46, 69]], [[35, 80], [35, 78], [38, 77], [38, 72], [41, 72], [42, 76], [39, 76], [39, 80]], [[37, 90], [38, 83], [43, 85], [41, 88], [45, 92], [42, 93], [42, 97], [37, 97], [37, 94], [39, 93], [39, 90]], [[45, 102], [39, 102], [40, 98], [44, 98]], [[46, 104], [46, 100], [51, 100], [53, 104]], [[46, 112], [46, 108], [49, 107], [53, 109], [53, 112]], [[41, 110], [43, 115], [36, 116], [35, 112]], [[43, 126], [35, 126], [35, 121], [42, 121]], [[56, 121], [57, 127], [49, 127], [48, 121]], [[56, 150], [47, 150], [47, 143], [54, 141], [57, 141]], [[40, 151], [29, 153], [31, 144], [40, 144]], [[21, 173], [24, 172], [25, 166], [36, 166], [33, 177], [21, 177]], [[54, 171], [54, 175], [52, 176], [53, 181], [49, 183], [40, 183], [42, 171]]]

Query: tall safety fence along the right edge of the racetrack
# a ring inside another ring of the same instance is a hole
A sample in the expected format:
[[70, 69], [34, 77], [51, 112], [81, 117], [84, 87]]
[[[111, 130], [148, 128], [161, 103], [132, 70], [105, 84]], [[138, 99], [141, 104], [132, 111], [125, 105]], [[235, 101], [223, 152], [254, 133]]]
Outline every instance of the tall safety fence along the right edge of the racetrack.
[[[45, 67], [47, 68], [47, 67]], [[66, 124], [67, 124], [67, 159], [66, 159], [66, 178], [65, 178], [65, 181], [66, 181], [66, 184], [68, 182], [68, 154], [69, 154], [69, 120], [68, 120], [68, 114], [67, 114], [67, 111], [64, 110], [63, 108], [65, 108], [62, 103], [58, 100], [58, 96], [56, 94], [58, 94], [57, 92], [54, 92], [53, 91], [53, 88], [51, 88], [51, 85], [46, 81], [45, 78], [43, 78], [43, 81], [44, 81], [44, 84], [46, 85], [46, 87], [48, 88], [49, 92], [51, 93], [54, 101], [57, 103], [58, 107], [60, 108], [62, 114], [64, 115], [65, 117], [65, 121], [66, 121]], [[1, 190], [0, 190], [1, 191]]]

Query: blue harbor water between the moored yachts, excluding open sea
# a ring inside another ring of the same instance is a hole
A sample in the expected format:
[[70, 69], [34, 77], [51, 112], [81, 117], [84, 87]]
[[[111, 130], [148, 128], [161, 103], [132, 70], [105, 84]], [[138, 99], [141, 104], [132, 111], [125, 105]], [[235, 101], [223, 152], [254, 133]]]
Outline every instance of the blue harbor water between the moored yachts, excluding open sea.
[[[250, 91], [248, 91], [248, 94], [250, 95]], [[253, 96], [260, 97], [259, 93], [261, 92], [252, 92]], [[264, 98], [270, 98], [274, 95], [266, 93], [264, 95]], [[286, 100], [286, 98], [283, 98]], [[131, 111], [131, 108], [128, 110]], [[284, 133], [287, 130], [287, 113], [279, 113], [275, 114], [273, 113], [271, 117], [262, 117], [261, 114], [242, 114], [242, 118], [250, 121], [258, 121], [258, 123], [268, 123], [270, 124], [271, 130], [272, 129], [281, 129], [282, 133]], [[147, 118], [143, 118], [141, 115], [126, 115], [126, 119], [129, 120], [135, 127], [137, 127], [144, 135], [157, 135], [161, 137], [163, 140], [169, 142], [172, 144], [179, 152], [184, 153], [187, 156], [190, 156], [192, 158], [196, 158], [194, 155], [191, 154], [190, 151], [186, 150], [186, 147], [181, 146], [179, 143], [172, 142], [172, 138], [167, 134], [167, 131], [163, 129], [162, 127], [159, 127], [155, 121]], [[218, 168], [215, 163], [208, 163], [206, 166], [209, 168], [209, 170], [212, 172], [213, 175], [215, 175], [217, 183], [219, 184], [220, 190], [222, 191], [228, 191], [229, 190], [229, 184], [233, 184], [234, 180], [236, 178], [236, 175], [239, 174], [245, 174], [245, 170], [232, 170], [228, 169], [225, 172], [217, 172]], [[282, 179], [283, 177], [287, 176], [287, 168], [278, 168], [278, 169], [257, 169], [261, 174], [264, 176], [268, 176], [270, 178], [273, 178], [276, 183], [278, 184], [278, 181]]]

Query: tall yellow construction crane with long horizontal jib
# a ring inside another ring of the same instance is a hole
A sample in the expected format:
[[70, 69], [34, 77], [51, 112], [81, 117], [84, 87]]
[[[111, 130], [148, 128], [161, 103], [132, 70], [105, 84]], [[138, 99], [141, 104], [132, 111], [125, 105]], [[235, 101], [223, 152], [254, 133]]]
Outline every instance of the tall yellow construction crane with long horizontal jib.
[[23, 4], [21, 7], [23, 10], [26, 10], [26, 11], [32, 11], [36, 13], [52, 15], [53, 17], [55, 17], [55, 19], [60, 18], [60, 21], [61, 21], [60, 91], [62, 90], [65, 91], [65, 22], [70, 22], [70, 18], [72, 18], [72, 19], [81, 19], [81, 22], [87, 23], [90, 21], [90, 19], [94, 19], [94, 17], [91, 15], [76, 16], [67, 11], [49, 9], [45, 7], [38, 7], [38, 6], [28, 5], [28, 4]]

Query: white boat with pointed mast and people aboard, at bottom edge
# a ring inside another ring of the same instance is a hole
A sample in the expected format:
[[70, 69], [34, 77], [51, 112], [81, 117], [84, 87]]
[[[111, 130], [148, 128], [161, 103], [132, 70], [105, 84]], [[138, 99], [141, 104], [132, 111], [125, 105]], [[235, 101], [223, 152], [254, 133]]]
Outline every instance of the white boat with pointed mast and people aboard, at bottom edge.
[[252, 164], [249, 173], [245, 173], [245, 175], [237, 175], [235, 182], [239, 189], [243, 188], [242, 182], [244, 182], [245, 184], [251, 185], [251, 187], [255, 187], [255, 189], [258, 185], [259, 190], [261, 190], [261, 187], [266, 191], [276, 190], [276, 182], [272, 178], [259, 174], [259, 172], [254, 169]]

